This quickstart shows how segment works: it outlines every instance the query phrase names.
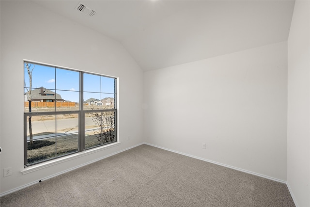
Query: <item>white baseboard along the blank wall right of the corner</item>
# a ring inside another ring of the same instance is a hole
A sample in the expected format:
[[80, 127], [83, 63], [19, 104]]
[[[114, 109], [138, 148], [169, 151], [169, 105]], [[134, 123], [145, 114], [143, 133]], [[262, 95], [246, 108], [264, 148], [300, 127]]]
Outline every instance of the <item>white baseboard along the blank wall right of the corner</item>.
[[280, 179], [277, 179], [277, 178], [274, 178], [274, 177], [269, 177], [269, 176], [262, 175], [262, 174], [259, 174], [259, 173], [254, 173], [254, 172], [251, 172], [251, 171], [248, 171], [248, 170], [244, 170], [244, 169], [241, 169], [241, 168], [237, 168], [237, 167], [233, 167], [233, 166], [230, 166], [230, 165], [222, 164], [222, 163], [219, 163], [219, 162], [216, 162], [216, 161], [212, 161], [212, 160], [209, 160], [209, 159], [204, 159], [204, 158], [196, 157], [196, 156], [189, 155], [189, 154], [186, 154], [186, 153], [183, 153], [183, 152], [179, 152], [179, 151], [175, 151], [175, 150], [168, 149], [168, 148], [165, 148], [165, 147], [157, 146], [157, 145], [154, 145], [154, 144], [151, 144], [151, 143], [144, 143], [144, 144], [147, 144], [147, 145], [150, 145], [150, 146], [154, 146], [154, 147], [157, 147], [157, 148], [160, 148], [160, 149], [164, 149], [164, 150], [167, 150], [167, 151], [171, 151], [171, 152], [174, 152], [174, 153], [178, 153], [178, 154], [181, 154], [181, 155], [185, 155], [187, 157], [191, 157], [191, 158], [195, 158], [195, 159], [200, 159], [200, 160], [203, 160], [203, 161], [206, 161], [206, 162], [210, 162], [210, 163], [213, 163], [213, 164], [217, 164], [217, 165], [220, 165], [220, 166], [223, 166], [223, 167], [231, 168], [233, 170], [241, 171], [241, 172], [248, 173], [248, 174], [251, 174], [251, 175], [257, 175], [259, 177], [263, 177], [263, 178], [266, 178], [266, 179], [269, 179], [269, 180], [273, 180], [273, 181], [276, 181], [276, 182], [280, 182], [280, 183], [286, 184], [286, 181], [280, 180]]

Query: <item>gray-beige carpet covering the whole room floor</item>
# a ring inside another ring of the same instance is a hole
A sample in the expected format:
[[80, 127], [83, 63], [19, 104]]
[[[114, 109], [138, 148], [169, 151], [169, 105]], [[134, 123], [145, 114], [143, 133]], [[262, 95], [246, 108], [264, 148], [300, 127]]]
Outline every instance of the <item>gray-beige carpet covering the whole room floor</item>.
[[0, 198], [1, 207], [294, 207], [285, 184], [140, 145]]

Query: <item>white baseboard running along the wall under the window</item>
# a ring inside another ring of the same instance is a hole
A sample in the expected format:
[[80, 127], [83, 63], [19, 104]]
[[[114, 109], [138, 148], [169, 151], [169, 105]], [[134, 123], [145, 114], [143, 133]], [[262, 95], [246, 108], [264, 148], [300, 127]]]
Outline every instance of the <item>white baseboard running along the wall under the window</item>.
[[42, 180], [47, 180], [47, 179], [50, 179], [50, 178], [52, 178], [52, 177], [56, 177], [56, 176], [58, 176], [58, 175], [62, 175], [62, 174], [64, 174], [64, 173], [70, 172], [70, 171], [72, 171], [72, 170], [78, 169], [78, 168], [83, 167], [83, 166], [86, 166], [86, 165], [89, 165], [89, 164], [91, 164], [91, 163], [93, 163], [93, 162], [96, 162], [96, 161], [99, 161], [99, 160], [101, 160], [101, 159], [105, 159], [105, 158], [108, 158], [108, 157], [110, 157], [110, 156], [113, 156], [113, 155], [119, 154], [119, 153], [121, 153], [121, 152], [124, 152], [124, 151], [126, 151], [126, 150], [128, 150], [128, 149], [137, 147], [137, 146], [139, 146], [139, 145], [141, 145], [141, 144], [143, 144], [143, 143], [139, 143], [139, 144], [133, 145], [133, 146], [131, 146], [131, 147], [128, 147], [128, 148], [125, 148], [125, 149], [123, 149], [123, 150], [120, 150], [120, 151], [111, 153], [111, 154], [109, 154], [109, 155], [103, 156], [103, 157], [98, 158], [98, 159], [94, 159], [94, 160], [92, 160], [92, 161], [90, 161], [90, 162], [86, 162], [86, 163], [84, 163], [84, 164], [75, 166], [75, 167], [73, 167], [73, 168], [70, 168], [70, 169], [67, 169], [67, 170], [65, 170], [65, 171], [56, 173], [56, 174], [54, 174], [54, 175], [50, 175], [50, 176], [41, 178], [41, 179], [39, 179], [39, 180], [36, 180], [36, 181], [31, 182], [31, 183], [28, 183], [28, 184], [26, 184], [26, 185], [17, 187], [17, 188], [15, 188], [15, 189], [10, 190], [10, 191], [3, 192], [3, 193], [0, 194], [0, 197], [2, 197], [2, 196], [4, 196], [4, 195], [8, 195], [8, 194], [10, 194], [10, 193], [12, 193], [12, 192], [15, 192], [15, 191], [19, 191], [19, 190], [22, 190], [22, 189], [24, 189], [24, 188], [30, 187], [30, 186], [32, 186], [32, 185], [34, 185], [34, 184], [37, 184], [40, 180], [41, 180], [41, 181], [42, 181]]

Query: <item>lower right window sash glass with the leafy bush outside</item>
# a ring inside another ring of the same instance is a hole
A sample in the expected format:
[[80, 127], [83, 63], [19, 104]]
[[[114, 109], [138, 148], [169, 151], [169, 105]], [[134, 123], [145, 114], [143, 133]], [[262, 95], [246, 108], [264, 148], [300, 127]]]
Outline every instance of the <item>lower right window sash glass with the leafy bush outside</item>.
[[114, 111], [93, 112], [85, 115], [85, 148], [115, 141]]

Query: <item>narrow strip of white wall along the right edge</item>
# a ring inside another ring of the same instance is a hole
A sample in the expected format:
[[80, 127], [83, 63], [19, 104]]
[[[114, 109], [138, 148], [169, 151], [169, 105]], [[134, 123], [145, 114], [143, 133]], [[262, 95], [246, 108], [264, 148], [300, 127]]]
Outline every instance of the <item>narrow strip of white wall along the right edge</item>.
[[310, 1], [295, 1], [288, 40], [287, 183], [310, 207]]

